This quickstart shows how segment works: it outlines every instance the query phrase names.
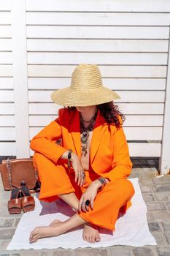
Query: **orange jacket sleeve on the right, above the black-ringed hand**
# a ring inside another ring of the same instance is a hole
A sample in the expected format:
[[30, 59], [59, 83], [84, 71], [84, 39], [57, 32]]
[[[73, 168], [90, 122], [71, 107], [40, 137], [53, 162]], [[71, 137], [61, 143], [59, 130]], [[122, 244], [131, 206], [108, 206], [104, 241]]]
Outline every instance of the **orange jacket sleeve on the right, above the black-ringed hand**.
[[112, 170], [103, 173], [104, 178], [115, 181], [121, 178], [127, 178], [131, 174], [132, 162], [129, 156], [128, 143], [123, 132], [123, 128], [117, 129], [113, 135], [113, 161]]

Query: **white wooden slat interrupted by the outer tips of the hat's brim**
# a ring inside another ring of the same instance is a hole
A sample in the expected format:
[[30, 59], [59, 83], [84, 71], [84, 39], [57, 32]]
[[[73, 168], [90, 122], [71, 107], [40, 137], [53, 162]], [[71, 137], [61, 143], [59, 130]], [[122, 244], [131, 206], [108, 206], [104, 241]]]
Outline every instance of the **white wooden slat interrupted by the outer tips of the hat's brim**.
[[[117, 102], [164, 102], [164, 91], [116, 91], [121, 99]], [[51, 102], [53, 91], [28, 91], [29, 102]], [[2, 95], [3, 97], [3, 95]], [[1, 99], [1, 98], [0, 98]]]

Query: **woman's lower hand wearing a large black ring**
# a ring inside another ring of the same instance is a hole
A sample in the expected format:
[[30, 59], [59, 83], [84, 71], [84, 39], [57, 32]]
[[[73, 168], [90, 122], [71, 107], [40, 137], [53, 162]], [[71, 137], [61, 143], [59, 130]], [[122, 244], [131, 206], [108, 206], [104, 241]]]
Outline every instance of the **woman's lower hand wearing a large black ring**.
[[[96, 180], [93, 181], [90, 186], [85, 190], [85, 192], [82, 194], [82, 197], [79, 201], [78, 211], [89, 211], [89, 207], [93, 210], [93, 202], [96, 198], [98, 188], [101, 187], [101, 182]], [[87, 206], [85, 202], [89, 200], [90, 204]]]

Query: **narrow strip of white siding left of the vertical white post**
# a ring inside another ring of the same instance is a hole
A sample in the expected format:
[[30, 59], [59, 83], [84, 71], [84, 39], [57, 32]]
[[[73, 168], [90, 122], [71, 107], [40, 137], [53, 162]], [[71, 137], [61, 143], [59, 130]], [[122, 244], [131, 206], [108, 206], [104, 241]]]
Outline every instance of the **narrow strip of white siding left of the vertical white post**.
[[10, 1], [0, 1], [0, 155], [15, 155]]

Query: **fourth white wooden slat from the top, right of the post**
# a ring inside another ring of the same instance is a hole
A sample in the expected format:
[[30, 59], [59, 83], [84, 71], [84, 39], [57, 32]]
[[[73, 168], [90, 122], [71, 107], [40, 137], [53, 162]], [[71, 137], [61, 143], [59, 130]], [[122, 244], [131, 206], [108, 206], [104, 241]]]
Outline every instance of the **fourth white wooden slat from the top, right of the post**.
[[27, 50], [59, 52], [168, 52], [168, 44], [168, 39], [27, 39]]

